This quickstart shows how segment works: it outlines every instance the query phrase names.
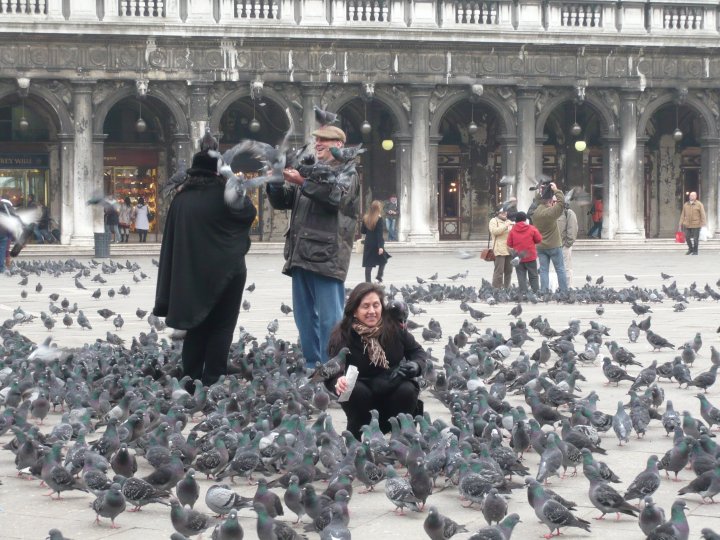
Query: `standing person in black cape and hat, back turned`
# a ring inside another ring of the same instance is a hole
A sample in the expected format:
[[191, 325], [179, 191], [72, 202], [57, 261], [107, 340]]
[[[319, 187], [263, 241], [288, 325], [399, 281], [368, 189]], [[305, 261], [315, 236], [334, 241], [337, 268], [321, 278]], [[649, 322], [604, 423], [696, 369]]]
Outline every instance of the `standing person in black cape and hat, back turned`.
[[219, 159], [195, 154], [170, 204], [153, 308], [172, 328], [187, 330], [183, 370], [206, 386], [227, 373], [257, 215], [247, 196], [236, 208], [226, 205]]

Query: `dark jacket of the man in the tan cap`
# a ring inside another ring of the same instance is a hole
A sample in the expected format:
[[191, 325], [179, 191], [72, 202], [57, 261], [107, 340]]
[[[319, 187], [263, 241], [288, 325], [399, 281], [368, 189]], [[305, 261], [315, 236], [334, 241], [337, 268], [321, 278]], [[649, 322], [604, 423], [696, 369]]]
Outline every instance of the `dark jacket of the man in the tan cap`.
[[360, 184], [357, 174], [347, 188], [336, 183], [306, 181], [268, 184], [268, 200], [276, 210], [292, 210], [285, 232], [285, 266], [345, 281], [355, 240], [360, 210]]

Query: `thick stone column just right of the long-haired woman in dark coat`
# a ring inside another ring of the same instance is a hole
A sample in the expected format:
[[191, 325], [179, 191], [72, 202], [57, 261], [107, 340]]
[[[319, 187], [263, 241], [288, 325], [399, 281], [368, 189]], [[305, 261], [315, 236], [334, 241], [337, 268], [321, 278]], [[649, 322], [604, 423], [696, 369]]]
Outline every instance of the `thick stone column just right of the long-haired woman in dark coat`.
[[[433, 86], [410, 88], [410, 112], [412, 118], [412, 149], [410, 170], [412, 190], [410, 197], [410, 234], [413, 243], [434, 242], [437, 237], [431, 229], [431, 200], [437, 198], [430, 174], [430, 93]], [[435, 203], [437, 204], [437, 202]], [[437, 231], [437, 213], [435, 214]]]

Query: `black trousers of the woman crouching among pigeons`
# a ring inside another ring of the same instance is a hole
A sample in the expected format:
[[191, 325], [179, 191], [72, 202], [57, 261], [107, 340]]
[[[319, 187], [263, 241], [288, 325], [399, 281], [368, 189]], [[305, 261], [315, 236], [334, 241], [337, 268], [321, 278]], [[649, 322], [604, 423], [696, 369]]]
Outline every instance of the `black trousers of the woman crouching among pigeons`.
[[359, 441], [360, 428], [370, 423], [370, 411], [376, 409], [380, 413], [380, 429], [383, 433], [388, 433], [388, 418], [400, 413], [415, 414], [418, 394], [417, 386], [407, 380], [384, 395], [373, 393], [366, 383], [358, 380], [350, 399], [340, 404], [348, 419], [347, 430]]

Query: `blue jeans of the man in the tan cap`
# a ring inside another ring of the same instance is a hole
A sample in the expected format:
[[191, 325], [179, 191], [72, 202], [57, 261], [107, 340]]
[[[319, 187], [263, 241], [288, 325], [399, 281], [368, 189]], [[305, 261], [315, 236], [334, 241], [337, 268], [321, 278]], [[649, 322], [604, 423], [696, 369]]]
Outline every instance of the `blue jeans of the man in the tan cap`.
[[303, 268], [293, 268], [293, 313], [307, 367], [328, 360], [333, 327], [342, 319], [345, 284]]

